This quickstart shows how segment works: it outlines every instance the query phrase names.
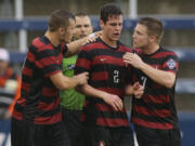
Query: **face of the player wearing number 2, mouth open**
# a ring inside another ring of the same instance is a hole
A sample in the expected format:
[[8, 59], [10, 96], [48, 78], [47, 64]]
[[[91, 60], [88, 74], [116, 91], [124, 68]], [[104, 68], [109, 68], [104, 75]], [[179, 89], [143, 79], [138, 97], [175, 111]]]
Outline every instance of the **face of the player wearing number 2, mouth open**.
[[119, 40], [122, 30], [122, 15], [113, 15], [108, 17], [105, 24], [101, 21], [101, 27], [103, 30], [102, 36], [109, 41]]

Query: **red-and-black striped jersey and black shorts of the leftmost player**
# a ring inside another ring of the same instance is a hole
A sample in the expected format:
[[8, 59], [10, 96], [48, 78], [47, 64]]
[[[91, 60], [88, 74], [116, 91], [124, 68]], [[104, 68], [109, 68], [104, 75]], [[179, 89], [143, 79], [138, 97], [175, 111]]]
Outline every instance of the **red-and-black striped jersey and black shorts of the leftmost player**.
[[22, 72], [21, 97], [12, 118], [12, 146], [69, 145], [62, 123], [60, 93], [50, 77], [62, 71], [67, 48], [46, 37], [32, 40]]

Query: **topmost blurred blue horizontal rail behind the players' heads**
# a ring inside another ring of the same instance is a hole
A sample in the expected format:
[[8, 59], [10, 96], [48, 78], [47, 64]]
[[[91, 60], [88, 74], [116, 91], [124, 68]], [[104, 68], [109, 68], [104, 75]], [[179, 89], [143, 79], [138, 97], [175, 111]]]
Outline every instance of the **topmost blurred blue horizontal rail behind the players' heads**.
[[[165, 25], [165, 29], [195, 29], [195, 18], [194, 17], [159, 17]], [[91, 17], [92, 25], [94, 29], [100, 29], [99, 18]], [[132, 29], [135, 26], [136, 19], [125, 18], [123, 29]], [[47, 17], [31, 17], [24, 18], [22, 21], [15, 19], [0, 19], [0, 31], [10, 30], [44, 30], [47, 29], [48, 18]]]

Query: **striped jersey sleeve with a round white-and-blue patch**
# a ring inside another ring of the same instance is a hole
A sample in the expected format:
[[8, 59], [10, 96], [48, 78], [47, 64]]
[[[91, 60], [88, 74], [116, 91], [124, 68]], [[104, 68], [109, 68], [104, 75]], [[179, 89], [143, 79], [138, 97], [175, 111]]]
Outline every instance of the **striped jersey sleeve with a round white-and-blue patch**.
[[174, 52], [171, 52], [169, 55], [166, 56], [164, 61], [162, 70], [177, 74], [178, 69], [179, 69], [179, 58]]

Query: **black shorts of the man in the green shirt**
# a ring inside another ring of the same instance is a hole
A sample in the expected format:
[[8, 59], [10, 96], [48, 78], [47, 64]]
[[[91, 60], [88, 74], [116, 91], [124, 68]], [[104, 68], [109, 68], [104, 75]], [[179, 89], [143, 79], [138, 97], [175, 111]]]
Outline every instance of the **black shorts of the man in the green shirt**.
[[62, 108], [63, 122], [67, 129], [72, 146], [77, 146], [78, 134], [81, 129], [81, 110], [69, 110]]

